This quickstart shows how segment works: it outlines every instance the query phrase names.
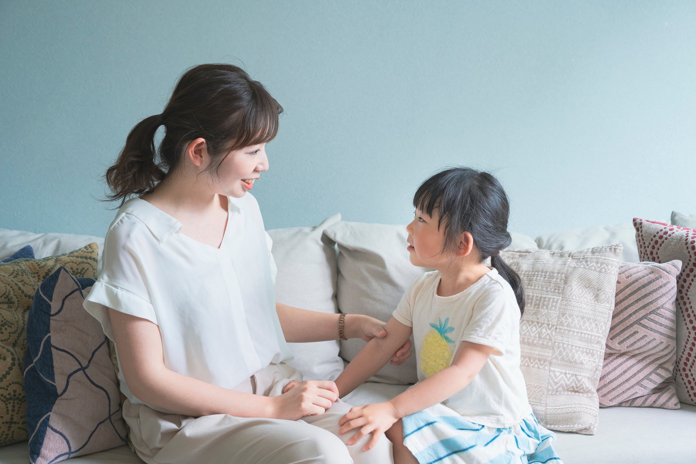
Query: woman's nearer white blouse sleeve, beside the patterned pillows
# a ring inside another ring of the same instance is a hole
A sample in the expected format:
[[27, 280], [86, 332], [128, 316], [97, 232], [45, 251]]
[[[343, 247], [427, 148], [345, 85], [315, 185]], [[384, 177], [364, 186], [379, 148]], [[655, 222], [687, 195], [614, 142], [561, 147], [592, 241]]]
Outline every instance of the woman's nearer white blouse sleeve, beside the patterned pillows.
[[102, 273], [83, 303], [112, 340], [109, 308], [157, 324], [144, 275], [145, 262], [154, 258], [148, 256], [152, 253], [148, 253], [148, 243], [143, 243], [148, 241], [147, 235], [138, 232], [118, 222], [111, 227], [104, 240]]

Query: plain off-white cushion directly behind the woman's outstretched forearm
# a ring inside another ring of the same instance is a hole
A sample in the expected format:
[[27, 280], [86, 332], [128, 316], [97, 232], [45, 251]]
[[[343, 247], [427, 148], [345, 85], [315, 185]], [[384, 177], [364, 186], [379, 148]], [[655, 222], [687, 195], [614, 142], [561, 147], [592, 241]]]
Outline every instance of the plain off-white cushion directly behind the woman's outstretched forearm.
[[[322, 232], [340, 220], [341, 215], [335, 214], [316, 227], [268, 231], [273, 240], [271, 253], [278, 268], [276, 301], [306, 310], [338, 312], [335, 247]], [[338, 340], [291, 343], [290, 349], [294, 354], [290, 365], [296, 367], [305, 380], [334, 380], [343, 370]]]

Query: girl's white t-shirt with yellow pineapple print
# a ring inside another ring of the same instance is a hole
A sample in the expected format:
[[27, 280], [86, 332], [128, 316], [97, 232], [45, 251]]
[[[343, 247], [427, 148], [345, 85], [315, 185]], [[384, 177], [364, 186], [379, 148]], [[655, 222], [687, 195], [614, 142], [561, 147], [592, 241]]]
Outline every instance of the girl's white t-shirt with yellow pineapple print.
[[393, 313], [413, 327], [418, 381], [449, 366], [461, 342], [491, 346], [473, 381], [443, 401], [471, 422], [506, 428], [532, 412], [520, 370], [520, 310], [496, 269], [452, 296], [438, 296], [440, 272], [425, 273]]

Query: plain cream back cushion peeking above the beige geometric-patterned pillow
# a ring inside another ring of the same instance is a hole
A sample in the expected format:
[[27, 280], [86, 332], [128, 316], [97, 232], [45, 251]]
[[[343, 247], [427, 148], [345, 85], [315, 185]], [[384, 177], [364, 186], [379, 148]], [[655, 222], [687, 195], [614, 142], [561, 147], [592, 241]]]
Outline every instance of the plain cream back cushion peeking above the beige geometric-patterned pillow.
[[599, 225], [580, 229], [567, 229], [537, 237], [537, 245], [543, 250], [585, 250], [596, 246], [624, 246], [622, 262], [638, 262], [633, 223]]

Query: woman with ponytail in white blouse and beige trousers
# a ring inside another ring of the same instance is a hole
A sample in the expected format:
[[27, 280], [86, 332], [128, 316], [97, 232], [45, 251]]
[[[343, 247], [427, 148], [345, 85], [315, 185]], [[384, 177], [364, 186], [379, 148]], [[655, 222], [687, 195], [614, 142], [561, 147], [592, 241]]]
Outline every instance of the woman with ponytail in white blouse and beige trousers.
[[300, 383], [286, 364], [286, 342], [386, 334], [377, 319], [275, 301], [271, 239], [248, 191], [269, 168], [280, 111], [239, 67], [193, 67], [106, 171], [121, 208], [84, 307], [116, 344], [123, 417], [146, 463], [391, 461], [388, 440], [347, 447], [335, 384]]

